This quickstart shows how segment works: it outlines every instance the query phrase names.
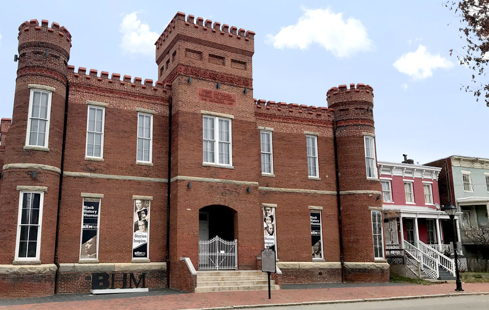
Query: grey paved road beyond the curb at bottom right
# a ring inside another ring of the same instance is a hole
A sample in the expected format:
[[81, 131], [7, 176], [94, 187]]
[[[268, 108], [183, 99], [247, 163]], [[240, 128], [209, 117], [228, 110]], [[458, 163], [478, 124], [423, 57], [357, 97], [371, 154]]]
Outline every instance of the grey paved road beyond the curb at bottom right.
[[247, 310], [487, 310], [489, 295], [425, 298], [396, 301], [375, 301], [333, 305], [289, 306], [271, 308], [253, 308]]

